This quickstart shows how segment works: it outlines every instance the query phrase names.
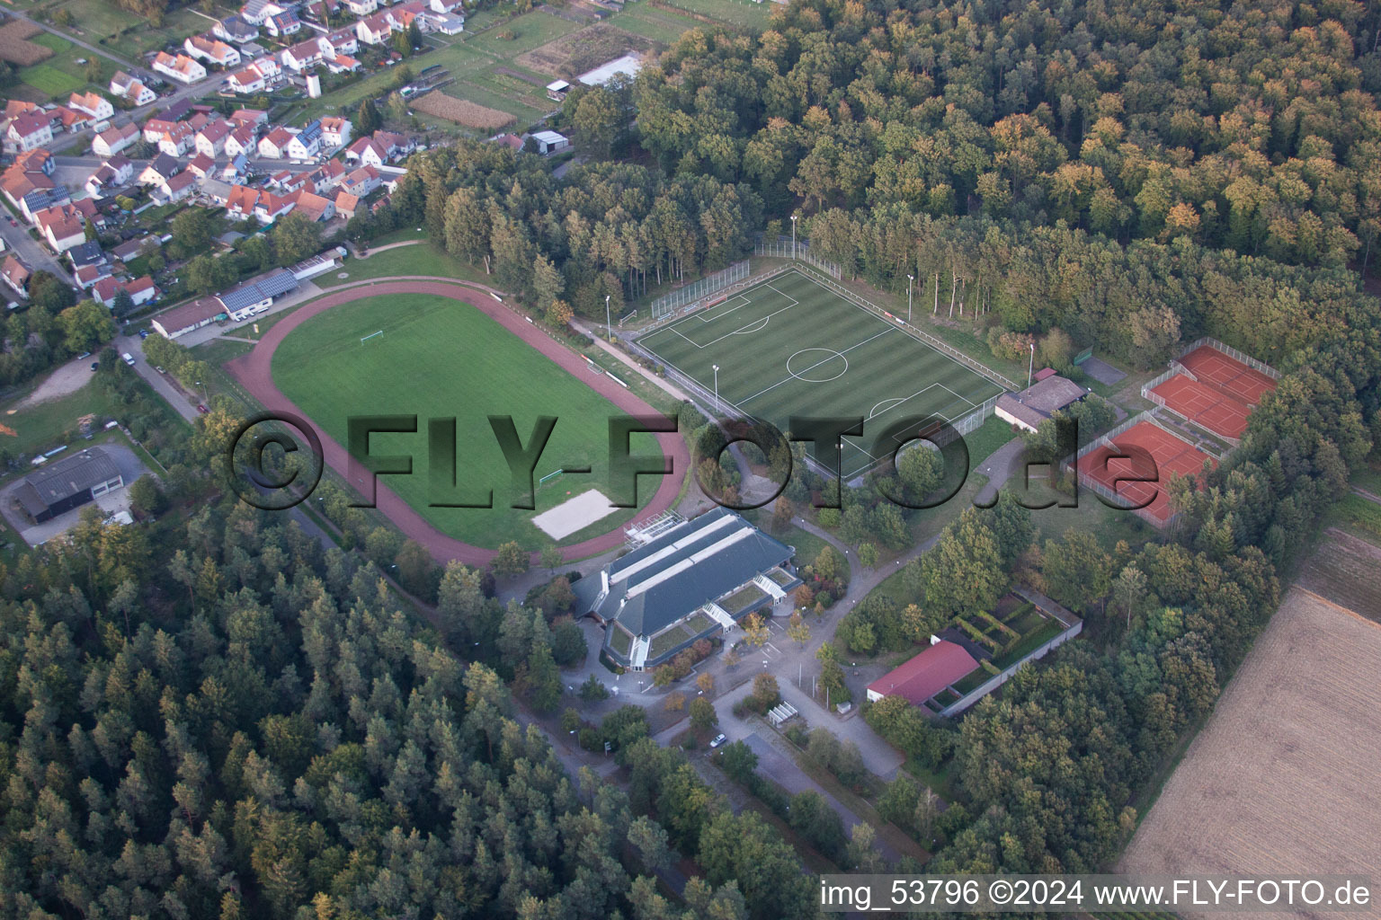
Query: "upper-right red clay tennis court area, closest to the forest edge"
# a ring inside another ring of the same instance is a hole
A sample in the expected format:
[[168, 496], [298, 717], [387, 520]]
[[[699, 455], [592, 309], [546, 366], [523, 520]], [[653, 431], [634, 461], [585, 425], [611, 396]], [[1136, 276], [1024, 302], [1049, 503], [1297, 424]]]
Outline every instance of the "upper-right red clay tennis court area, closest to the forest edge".
[[1242, 361], [1203, 345], [1179, 359], [1199, 379], [1175, 374], [1152, 393], [1166, 408], [1224, 437], [1239, 439], [1247, 430], [1247, 415], [1276, 382]]

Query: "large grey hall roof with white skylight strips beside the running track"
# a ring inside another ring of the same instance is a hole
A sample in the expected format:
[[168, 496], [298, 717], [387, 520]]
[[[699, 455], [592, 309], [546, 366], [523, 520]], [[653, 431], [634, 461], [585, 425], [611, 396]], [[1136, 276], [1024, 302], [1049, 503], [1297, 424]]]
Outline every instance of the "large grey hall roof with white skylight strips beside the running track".
[[[793, 549], [717, 508], [673, 527], [608, 566], [609, 594], [595, 608], [634, 636], [650, 636], [791, 559]], [[581, 583], [584, 590], [588, 590]], [[592, 600], [592, 599], [591, 599]]]

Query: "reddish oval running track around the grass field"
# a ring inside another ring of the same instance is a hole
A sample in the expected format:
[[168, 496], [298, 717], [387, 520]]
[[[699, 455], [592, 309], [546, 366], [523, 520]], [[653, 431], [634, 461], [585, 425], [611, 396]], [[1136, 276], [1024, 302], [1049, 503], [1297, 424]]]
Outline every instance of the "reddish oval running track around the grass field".
[[[577, 378], [581, 383], [590, 386], [619, 407], [621, 412], [627, 415], [646, 415], [655, 412], [650, 406], [610, 381], [608, 375], [591, 378], [583, 356], [558, 345], [555, 341], [534, 328], [523, 317], [496, 303], [487, 294], [482, 294], [476, 290], [461, 287], [453, 281], [445, 280], [380, 279], [376, 281], [362, 281], [345, 290], [320, 297], [297, 308], [297, 310], [289, 313], [283, 320], [273, 324], [273, 327], [264, 334], [264, 338], [258, 341], [258, 345], [254, 346], [254, 350], [228, 361], [225, 368], [246, 390], [254, 396], [254, 399], [262, 403], [267, 410], [289, 411], [301, 415], [302, 418], [311, 418], [307, 412], [300, 410], [293, 400], [283, 396], [283, 393], [273, 383], [273, 352], [289, 332], [318, 313], [329, 310], [333, 306], [340, 306], [341, 303], [349, 303], [351, 301], [359, 301], [369, 297], [387, 297], [389, 294], [434, 294], [468, 303], [532, 348], [541, 352], [545, 357], [555, 361], [568, 374]], [[322, 439], [322, 452], [326, 455], [326, 463], [342, 477], [348, 477], [348, 455], [345, 448], [326, 432], [318, 429], [316, 433]], [[682, 441], [679, 434], [660, 433], [656, 434], [656, 439], [657, 444], [661, 447], [661, 454], [671, 458], [671, 469], [674, 472], [671, 476], [661, 477], [656, 495], [652, 497], [652, 501], [642, 509], [642, 512], [638, 513], [634, 521], [646, 520], [653, 514], [660, 514], [671, 508], [681, 492], [681, 477], [690, 469], [690, 457], [686, 452], [685, 441]], [[486, 566], [489, 564], [489, 560], [493, 559], [494, 550], [463, 543], [454, 537], [447, 537], [432, 527], [431, 523], [417, 513], [412, 505], [405, 502], [396, 492], [388, 488], [383, 479], [378, 480], [377, 488], [376, 502], [378, 509], [388, 517], [388, 520], [394, 521], [399, 530], [403, 531], [403, 534], [425, 546], [428, 552], [431, 552], [432, 559], [438, 563], [446, 564], [447, 561], [456, 559], [467, 566]], [[602, 537], [595, 537], [573, 546], [565, 546], [562, 548], [561, 554], [566, 560], [584, 559], [586, 556], [594, 556], [597, 553], [615, 549], [623, 542], [623, 531], [615, 530], [603, 534]], [[534, 553], [533, 559], [536, 560], [536, 557], [537, 556]]]

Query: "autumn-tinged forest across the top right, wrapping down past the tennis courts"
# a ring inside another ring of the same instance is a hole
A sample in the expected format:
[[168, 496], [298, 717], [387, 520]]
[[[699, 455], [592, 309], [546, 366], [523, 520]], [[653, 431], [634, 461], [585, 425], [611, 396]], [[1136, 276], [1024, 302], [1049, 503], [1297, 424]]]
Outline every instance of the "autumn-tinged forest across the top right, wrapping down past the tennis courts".
[[[425, 217], [539, 312], [573, 297], [594, 314], [649, 273], [747, 252], [758, 226], [718, 218], [733, 201], [769, 236], [797, 215], [812, 252], [874, 286], [914, 274], [932, 312], [957, 301], [975, 345], [1059, 330], [1149, 368], [1214, 335], [1284, 371], [1207, 487], [1177, 486], [1168, 545], [1036, 545], [1016, 509], [965, 512], [914, 566], [923, 604], [880, 599], [841, 625], [848, 644], [905, 647], [1014, 572], [1080, 610], [1121, 597], [1114, 648], [1063, 647], [957, 728], [873, 720], [954, 757], [972, 814], [932, 866], [1092, 869], [1381, 433], [1381, 310], [1358, 274], [1381, 230], [1378, 28], [1348, 0], [797, 0], [760, 36], [695, 30], [631, 87], [573, 92], [559, 121], [577, 143], [591, 132], [631, 161], [552, 181], [533, 157], [458, 145], [414, 160], [381, 219]], [[877, 486], [842, 523], [891, 543]], [[910, 823], [914, 783], [889, 796]]]

